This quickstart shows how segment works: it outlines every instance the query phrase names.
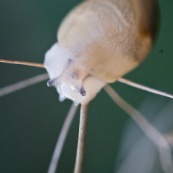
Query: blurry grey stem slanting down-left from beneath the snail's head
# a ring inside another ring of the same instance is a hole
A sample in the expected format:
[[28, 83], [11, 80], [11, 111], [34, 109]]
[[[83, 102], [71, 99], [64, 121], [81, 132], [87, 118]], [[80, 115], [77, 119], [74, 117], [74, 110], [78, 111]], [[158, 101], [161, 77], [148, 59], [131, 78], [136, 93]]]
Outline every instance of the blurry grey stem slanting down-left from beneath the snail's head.
[[64, 124], [62, 126], [60, 135], [57, 139], [56, 145], [55, 145], [55, 149], [52, 155], [52, 159], [49, 165], [49, 169], [48, 169], [48, 173], [55, 173], [56, 169], [58, 167], [58, 163], [59, 163], [59, 159], [63, 150], [63, 146], [68, 134], [68, 131], [70, 129], [70, 126], [72, 124], [72, 121], [74, 119], [74, 116], [76, 114], [77, 111], [77, 106], [74, 105], [74, 103], [72, 103], [69, 112], [67, 114], [67, 117], [64, 121]]

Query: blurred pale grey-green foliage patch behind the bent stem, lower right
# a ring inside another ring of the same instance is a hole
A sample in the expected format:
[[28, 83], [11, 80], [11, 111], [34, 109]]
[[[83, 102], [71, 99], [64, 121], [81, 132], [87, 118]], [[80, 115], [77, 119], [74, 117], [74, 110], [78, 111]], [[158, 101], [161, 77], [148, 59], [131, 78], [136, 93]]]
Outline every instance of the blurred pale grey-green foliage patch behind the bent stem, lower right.
[[[153, 127], [173, 140], [172, 101], [149, 97], [141, 104], [139, 110]], [[123, 133], [115, 172], [162, 173], [159, 151], [138, 125], [132, 120], [128, 121]], [[172, 144], [170, 147], [172, 148]]]

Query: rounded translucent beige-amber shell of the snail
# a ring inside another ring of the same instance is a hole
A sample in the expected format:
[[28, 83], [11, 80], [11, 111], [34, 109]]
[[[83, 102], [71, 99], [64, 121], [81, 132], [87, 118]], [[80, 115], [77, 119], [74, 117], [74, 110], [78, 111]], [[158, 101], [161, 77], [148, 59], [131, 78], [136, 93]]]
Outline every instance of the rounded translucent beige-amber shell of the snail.
[[72, 59], [104, 82], [114, 82], [149, 53], [155, 35], [155, 0], [88, 0], [58, 31]]

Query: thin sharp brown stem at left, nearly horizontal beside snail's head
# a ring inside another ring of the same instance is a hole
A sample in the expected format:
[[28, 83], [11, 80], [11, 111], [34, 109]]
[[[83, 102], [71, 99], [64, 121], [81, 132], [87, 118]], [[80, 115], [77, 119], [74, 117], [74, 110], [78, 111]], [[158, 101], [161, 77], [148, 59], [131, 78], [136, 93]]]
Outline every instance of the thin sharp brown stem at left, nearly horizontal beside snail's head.
[[15, 61], [15, 60], [0, 59], [0, 63], [26, 65], [26, 66], [37, 67], [37, 68], [45, 68], [44, 64], [26, 62], [26, 61]]

